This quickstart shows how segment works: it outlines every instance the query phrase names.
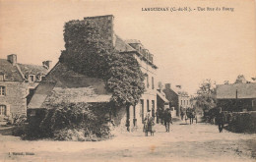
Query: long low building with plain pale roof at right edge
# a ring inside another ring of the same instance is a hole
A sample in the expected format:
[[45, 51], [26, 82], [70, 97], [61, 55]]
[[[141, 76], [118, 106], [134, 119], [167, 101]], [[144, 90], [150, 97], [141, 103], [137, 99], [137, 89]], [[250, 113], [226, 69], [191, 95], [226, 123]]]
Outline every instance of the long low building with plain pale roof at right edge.
[[224, 111], [256, 111], [256, 82], [217, 85], [217, 103]]

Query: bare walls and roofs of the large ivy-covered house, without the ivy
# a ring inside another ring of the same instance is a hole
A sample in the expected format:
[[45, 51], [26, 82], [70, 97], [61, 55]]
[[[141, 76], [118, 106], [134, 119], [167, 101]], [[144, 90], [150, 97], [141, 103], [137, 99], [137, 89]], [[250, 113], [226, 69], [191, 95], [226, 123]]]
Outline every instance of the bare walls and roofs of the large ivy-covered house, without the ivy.
[[[146, 74], [146, 91], [142, 95], [139, 104], [130, 106], [129, 108], [123, 108], [112, 117], [116, 125], [124, 127], [128, 124], [129, 131], [136, 130], [138, 127], [142, 128], [146, 113], [151, 111], [151, 115], [155, 117], [157, 111], [157, 88], [155, 82], [157, 82], [158, 67], [154, 64], [153, 54], [139, 40], [122, 40], [113, 30], [114, 17], [112, 15], [87, 17], [85, 21], [94, 22], [99, 27], [99, 34], [106, 40], [109, 48], [114, 48], [120, 54], [134, 56], [139, 62], [142, 72]], [[51, 97], [58, 90], [64, 92], [63, 95], [74, 102], [109, 102], [111, 94], [105, 90], [105, 84], [102, 80], [89, 78], [81, 74], [75, 74], [74, 72], [70, 73], [72, 70], [66, 68], [62, 63], [57, 63], [46, 76], [45, 81], [40, 82], [29, 105], [31, 116], [47, 108], [47, 98]], [[79, 80], [78, 77], [80, 77]], [[66, 84], [66, 82], [69, 82], [69, 84]], [[82, 94], [73, 95], [72, 93], [75, 90], [80, 91]], [[87, 93], [88, 90], [90, 93]]]

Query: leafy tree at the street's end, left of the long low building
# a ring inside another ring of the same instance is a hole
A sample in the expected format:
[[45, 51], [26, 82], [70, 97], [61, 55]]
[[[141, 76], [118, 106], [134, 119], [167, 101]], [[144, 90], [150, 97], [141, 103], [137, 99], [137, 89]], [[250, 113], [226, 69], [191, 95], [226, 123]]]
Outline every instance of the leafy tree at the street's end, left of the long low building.
[[211, 80], [203, 81], [197, 91], [196, 106], [203, 111], [216, 107], [216, 87]]

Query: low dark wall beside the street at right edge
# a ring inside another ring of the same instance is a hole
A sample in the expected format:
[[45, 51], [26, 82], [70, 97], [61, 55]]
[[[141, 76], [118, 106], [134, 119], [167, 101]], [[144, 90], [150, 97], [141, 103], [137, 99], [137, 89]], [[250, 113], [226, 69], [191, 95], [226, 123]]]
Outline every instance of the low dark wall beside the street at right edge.
[[256, 111], [231, 113], [226, 130], [235, 133], [256, 133]]

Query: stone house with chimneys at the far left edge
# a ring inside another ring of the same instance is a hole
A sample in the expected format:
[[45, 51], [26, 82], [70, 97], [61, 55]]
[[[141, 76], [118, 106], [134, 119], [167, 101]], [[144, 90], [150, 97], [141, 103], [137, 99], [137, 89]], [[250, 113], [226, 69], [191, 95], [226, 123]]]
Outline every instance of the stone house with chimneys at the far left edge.
[[42, 66], [20, 64], [17, 55], [8, 55], [0, 59], [0, 117], [12, 118], [27, 115], [27, 105], [33, 89], [47, 74], [51, 61]]

